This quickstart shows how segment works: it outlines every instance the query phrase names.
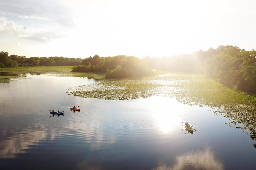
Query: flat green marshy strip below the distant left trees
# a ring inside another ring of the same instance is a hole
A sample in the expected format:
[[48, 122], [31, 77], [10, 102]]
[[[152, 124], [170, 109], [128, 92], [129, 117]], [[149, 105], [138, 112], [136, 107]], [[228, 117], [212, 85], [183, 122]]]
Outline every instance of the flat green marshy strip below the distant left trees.
[[22, 78], [21, 74], [56, 74], [55, 76], [68, 77], [89, 77], [94, 79], [103, 79], [104, 73], [73, 73], [72, 66], [55, 66], [55, 67], [14, 67], [0, 68], [0, 83], [9, 83], [15, 79]]

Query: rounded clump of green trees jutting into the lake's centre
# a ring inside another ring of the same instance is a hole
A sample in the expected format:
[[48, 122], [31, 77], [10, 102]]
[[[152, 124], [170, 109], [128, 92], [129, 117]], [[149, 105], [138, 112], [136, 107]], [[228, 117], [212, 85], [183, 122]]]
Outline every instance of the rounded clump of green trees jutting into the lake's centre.
[[125, 55], [100, 57], [96, 54], [84, 59], [82, 65], [74, 66], [72, 71], [104, 72], [106, 78], [138, 78], [153, 74], [146, 60]]

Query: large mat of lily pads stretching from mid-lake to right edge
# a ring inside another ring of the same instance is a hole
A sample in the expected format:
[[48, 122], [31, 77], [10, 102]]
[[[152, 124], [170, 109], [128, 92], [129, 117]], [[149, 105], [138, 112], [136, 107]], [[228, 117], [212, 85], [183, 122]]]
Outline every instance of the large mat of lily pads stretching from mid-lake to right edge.
[[256, 140], [256, 97], [228, 89], [203, 75], [172, 73], [135, 80], [103, 79], [70, 88], [68, 94], [105, 100], [175, 97], [188, 105], [212, 107], [216, 114], [229, 117], [229, 126], [250, 132], [250, 137]]

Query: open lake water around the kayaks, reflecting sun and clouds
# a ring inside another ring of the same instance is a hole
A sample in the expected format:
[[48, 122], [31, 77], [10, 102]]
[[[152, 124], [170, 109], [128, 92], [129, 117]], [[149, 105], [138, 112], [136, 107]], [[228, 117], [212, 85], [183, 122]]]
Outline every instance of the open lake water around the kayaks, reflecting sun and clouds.
[[[256, 142], [211, 108], [159, 96], [111, 101], [66, 93], [93, 82], [28, 75], [0, 84], [0, 169], [255, 169]], [[81, 112], [70, 111], [74, 105]]]

